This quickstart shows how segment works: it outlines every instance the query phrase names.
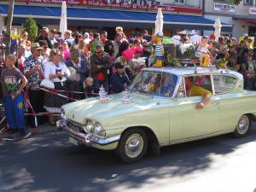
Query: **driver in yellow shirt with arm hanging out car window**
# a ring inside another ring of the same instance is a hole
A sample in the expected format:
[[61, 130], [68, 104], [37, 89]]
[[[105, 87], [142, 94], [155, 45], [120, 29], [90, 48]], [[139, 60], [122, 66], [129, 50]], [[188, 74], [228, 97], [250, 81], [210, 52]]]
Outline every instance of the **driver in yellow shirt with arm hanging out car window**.
[[201, 102], [199, 102], [196, 108], [204, 108], [207, 102], [210, 102], [212, 97], [212, 92], [210, 90], [205, 90], [201, 86], [193, 84], [193, 78], [185, 78], [187, 96], [203, 96]]

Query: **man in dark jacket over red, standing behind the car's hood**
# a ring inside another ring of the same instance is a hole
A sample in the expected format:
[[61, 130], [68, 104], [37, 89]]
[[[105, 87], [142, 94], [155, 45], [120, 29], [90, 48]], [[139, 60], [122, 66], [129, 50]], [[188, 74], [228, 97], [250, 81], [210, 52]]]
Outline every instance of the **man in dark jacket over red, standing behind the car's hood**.
[[108, 75], [111, 63], [108, 53], [102, 51], [102, 44], [96, 44], [95, 53], [90, 56], [90, 67], [90, 76], [94, 79], [94, 87], [99, 89], [103, 84], [108, 92]]

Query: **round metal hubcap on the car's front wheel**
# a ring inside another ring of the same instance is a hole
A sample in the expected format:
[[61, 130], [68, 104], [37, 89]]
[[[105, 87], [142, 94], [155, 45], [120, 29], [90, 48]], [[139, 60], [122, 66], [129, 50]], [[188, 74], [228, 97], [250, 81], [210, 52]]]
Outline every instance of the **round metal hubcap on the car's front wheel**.
[[125, 142], [125, 154], [131, 158], [136, 158], [143, 151], [143, 137], [139, 134], [132, 134]]

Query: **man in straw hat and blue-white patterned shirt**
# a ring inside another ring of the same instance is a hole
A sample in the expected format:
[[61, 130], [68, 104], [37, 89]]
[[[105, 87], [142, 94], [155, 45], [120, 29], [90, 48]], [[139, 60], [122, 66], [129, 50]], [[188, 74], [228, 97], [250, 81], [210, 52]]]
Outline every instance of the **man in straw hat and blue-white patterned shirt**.
[[[40, 81], [44, 79], [43, 61], [40, 57], [42, 49], [38, 43], [33, 43], [31, 45], [32, 55], [27, 57], [24, 62], [24, 74], [28, 80], [26, 89], [32, 108], [36, 113], [44, 112], [44, 93], [39, 90]], [[33, 127], [36, 126], [33, 116], [28, 117], [28, 123]], [[40, 120], [38, 123], [40, 123]]]

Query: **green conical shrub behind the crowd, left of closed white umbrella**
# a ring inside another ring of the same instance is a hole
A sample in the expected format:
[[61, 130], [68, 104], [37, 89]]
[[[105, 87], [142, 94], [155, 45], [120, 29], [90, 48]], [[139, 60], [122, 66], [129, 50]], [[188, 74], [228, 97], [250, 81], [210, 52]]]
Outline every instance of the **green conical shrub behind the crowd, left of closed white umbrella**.
[[35, 39], [38, 38], [38, 25], [36, 20], [32, 18], [32, 15], [27, 18], [24, 24], [24, 31], [28, 33], [28, 40], [31, 42], [34, 42]]

